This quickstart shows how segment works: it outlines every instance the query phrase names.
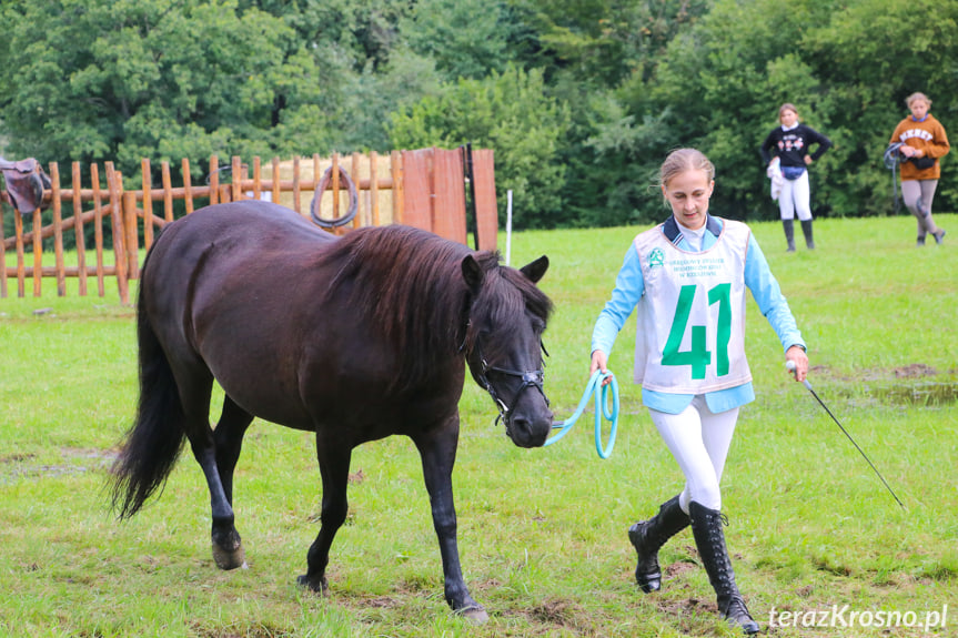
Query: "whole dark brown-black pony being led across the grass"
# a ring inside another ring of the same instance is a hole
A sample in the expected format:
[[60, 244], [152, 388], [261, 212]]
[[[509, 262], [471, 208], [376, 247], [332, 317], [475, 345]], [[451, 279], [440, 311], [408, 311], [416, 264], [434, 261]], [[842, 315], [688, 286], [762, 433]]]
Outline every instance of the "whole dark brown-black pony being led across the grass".
[[[553, 418], [541, 341], [552, 304], [535, 282], [547, 267], [545, 256], [522, 270], [502, 266], [496, 253], [406, 226], [337, 239], [258, 201], [208, 206], [170, 224], [142, 271], [140, 403], [114, 467], [114, 508], [121, 518], [134, 515], [189, 439], [210, 488], [216, 565], [243, 566], [232, 508], [243, 434], [254, 417], [315, 432], [322, 524], [299, 581], [325, 593], [352, 449], [406, 435], [422, 457], [446, 601], [486, 619], [463, 581], [456, 546], [463, 361], [513, 442], [541, 446]], [[225, 399], [212, 428], [214, 379]]]

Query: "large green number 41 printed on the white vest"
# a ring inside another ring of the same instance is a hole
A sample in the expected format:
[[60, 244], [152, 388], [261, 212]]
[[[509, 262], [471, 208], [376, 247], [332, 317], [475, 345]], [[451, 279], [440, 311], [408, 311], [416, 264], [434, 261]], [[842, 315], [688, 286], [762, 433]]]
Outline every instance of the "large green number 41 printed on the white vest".
[[[692, 378], [705, 378], [705, 368], [712, 363], [712, 352], [705, 343], [705, 326], [692, 326], [692, 346], [679, 352], [682, 337], [688, 326], [688, 314], [692, 301], [698, 286], [682, 286], [678, 294], [678, 305], [675, 307], [675, 321], [668, 332], [668, 341], [662, 352], [662, 365], [690, 365]], [[708, 305], [718, 304], [718, 326], [715, 334], [716, 375], [728, 374], [728, 342], [732, 338], [732, 284], [718, 284], [708, 291]]]

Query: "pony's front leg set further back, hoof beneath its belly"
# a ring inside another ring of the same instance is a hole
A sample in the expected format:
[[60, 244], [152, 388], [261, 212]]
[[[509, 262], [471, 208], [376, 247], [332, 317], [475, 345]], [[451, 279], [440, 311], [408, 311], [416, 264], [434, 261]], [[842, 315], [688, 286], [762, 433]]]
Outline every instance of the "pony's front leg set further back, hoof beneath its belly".
[[326, 594], [326, 566], [330, 563], [330, 547], [340, 527], [346, 520], [349, 500], [346, 485], [350, 477], [352, 449], [330, 445], [316, 435], [316, 458], [323, 479], [323, 503], [320, 513], [320, 533], [306, 555], [307, 570], [296, 581], [313, 591]]

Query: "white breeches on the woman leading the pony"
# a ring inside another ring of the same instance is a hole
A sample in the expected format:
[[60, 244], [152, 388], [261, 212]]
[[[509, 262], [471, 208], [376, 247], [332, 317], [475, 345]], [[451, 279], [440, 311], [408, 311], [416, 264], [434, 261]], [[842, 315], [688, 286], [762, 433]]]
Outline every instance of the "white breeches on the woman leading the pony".
[[696, 395], [679, 414], [652, 408], [648, 412], [685, 475], [685, 489], [678, 497], [683, 512], [688, 514], [690, 500], [709, 509], [722, 509], [718, 484], [735, 433], [738, 408], [714, 414], [708, 409], [705, 397]]

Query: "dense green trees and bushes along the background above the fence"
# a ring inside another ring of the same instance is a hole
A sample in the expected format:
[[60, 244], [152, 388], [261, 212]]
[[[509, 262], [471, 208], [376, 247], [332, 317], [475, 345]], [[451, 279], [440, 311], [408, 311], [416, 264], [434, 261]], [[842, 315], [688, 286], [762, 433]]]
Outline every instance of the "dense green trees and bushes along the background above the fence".
[[132, 174], [142, 156], [472, 142], [495, 150], [520, 227], [657, 220], [648, 191], [682, 145], [716, 163], [716, 211], [774, 219], [758, 145], [784, 101], [835, 142], [816, 214], [887, 214], [904, 98], [958, 122], [958, 0], [16, 0], [0, 17], [9, 156]]

